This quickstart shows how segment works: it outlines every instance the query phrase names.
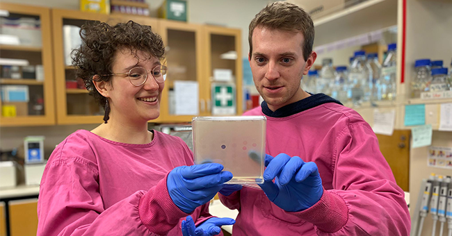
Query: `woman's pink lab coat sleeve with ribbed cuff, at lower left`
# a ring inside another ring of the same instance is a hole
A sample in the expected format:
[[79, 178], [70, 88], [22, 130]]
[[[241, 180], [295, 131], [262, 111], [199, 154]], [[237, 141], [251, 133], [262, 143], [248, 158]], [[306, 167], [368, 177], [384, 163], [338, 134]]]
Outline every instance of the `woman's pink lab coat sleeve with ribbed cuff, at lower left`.
[[104, 209], [94, 163], [66, 158], [48, 165], [40, 186], [37, 235], [166, 235], [188, 215], [172, 203], [166, 178]]

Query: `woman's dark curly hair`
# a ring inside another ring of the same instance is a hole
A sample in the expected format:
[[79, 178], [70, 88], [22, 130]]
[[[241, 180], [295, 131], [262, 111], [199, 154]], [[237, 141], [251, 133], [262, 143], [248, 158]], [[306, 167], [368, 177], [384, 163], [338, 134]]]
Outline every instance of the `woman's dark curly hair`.
[[[92, 76], [99, 75], [97, 81], [111, 81], [112, 66], [118, 50], [129, 49], [136, 58], [138, 51], [145, 55], [163, 60], [165, 46], [160, 35], [152, 32], [151, 26], [136, 22], [119, 23], [110, 26], [104, 22], [89, 22], [80, 29], [81, 47], [72, 51], [72, 65], [76, 67], [77, 78], [82, 78], [90, 95], [102, 106], [106, 106], [106, 98], [99, 94]], [[143, 58], [138, 58], [143, 60]], [[108, 104], [107, 104], [108, 106]], [[105, 116], [108, 119], [109, 109]]]

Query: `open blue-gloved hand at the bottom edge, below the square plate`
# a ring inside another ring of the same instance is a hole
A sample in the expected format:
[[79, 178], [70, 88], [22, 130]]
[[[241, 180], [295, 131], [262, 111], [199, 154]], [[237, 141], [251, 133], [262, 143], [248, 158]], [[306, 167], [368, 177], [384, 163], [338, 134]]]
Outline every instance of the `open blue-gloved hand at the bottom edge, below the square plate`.
[[231, 218], [212, 217], [202, 222], [200, 226], [195, 227], [195, 222], [191, 216], [186, 221], [182, 221], [182, 235], [184, 236], [212, 236], [221, 232], [221, 226], [234, 224], [236, 221]]

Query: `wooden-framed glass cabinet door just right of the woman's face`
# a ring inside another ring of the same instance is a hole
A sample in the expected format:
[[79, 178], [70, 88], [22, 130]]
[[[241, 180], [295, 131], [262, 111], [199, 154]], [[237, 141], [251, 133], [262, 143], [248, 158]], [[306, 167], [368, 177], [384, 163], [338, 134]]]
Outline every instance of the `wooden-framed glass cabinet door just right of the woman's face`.
[[[169, 20], [159, 20], [159, 34], [166, 46], [166, 62], [168, 74], [166, 76], [165, 88], [163, 89], [160, 118], [162, 122], [190, 122], [193, 115], [176, 115], [175, 82], [191, 81], [197, 83], [198, 93], [195, 94], [200, 103], [206, 101], [204, 87], [206, 80], [203, 68], [206, 58], [204, 57], [204, 43], [202, 37], [202, 26], [197, 24], [186, 24]], [[205, 114], [205, 106], [200, 104], [193, 111], [197, 114]], [[180, 113], [179, 113], [180, 114]]]

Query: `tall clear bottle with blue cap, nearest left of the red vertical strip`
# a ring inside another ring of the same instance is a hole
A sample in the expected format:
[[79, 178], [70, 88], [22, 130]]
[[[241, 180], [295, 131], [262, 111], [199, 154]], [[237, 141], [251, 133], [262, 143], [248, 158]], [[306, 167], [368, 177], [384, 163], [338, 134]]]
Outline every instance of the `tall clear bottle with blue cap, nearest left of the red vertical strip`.
[[393, 101], [397, 92], [397, 44], [387, 46], [387, 56], [382, 66], [381, 97]]

